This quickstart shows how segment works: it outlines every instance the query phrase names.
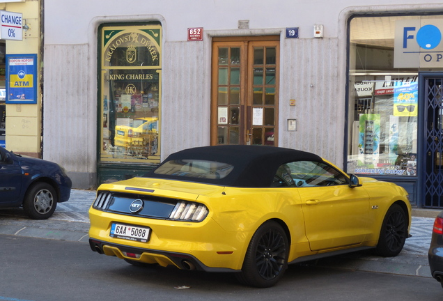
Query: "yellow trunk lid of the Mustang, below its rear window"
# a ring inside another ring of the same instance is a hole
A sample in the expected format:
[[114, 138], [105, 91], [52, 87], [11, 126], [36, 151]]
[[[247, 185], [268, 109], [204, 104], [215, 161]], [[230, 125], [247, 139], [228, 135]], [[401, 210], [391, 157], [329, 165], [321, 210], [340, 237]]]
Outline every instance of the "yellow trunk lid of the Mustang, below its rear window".
[[208, 196], [221, 193], [224, 190], [224, 186], [178, 180], [162, 180], [158, 178], [132, 178], [130, 180], [102, 184], [98, 187], [98, 190], [126, 193], [139, 192], [141, 194], [155, 194], [156, 196], [196, 200], [199, 195]]

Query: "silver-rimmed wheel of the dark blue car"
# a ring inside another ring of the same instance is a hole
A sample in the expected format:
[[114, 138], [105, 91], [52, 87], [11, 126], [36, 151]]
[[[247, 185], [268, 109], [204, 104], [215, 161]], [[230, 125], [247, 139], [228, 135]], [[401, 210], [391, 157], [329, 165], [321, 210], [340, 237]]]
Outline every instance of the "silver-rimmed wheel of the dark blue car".
[[24, 196], [23, 210], [31, 219], [47, 219], [54, 213], [57, 201], [54, 187], [44, 182], [34, 183]]

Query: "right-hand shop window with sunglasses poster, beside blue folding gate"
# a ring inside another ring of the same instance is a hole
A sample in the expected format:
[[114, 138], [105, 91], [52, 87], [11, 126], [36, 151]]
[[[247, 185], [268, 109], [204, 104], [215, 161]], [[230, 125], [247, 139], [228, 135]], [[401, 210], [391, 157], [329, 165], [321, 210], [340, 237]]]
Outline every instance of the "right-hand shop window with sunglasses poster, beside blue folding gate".
[[348, 173], [417, 176], [419, 70], [394, 68], [403, 18], [350, 21]]

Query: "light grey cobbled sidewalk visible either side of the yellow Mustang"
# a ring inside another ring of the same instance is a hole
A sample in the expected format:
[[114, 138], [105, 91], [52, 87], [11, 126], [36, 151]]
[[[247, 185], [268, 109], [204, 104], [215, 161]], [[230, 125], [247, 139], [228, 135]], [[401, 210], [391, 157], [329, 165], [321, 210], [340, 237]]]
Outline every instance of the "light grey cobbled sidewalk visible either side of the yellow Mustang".
[[[70, 200], [59, 203], [52, 217], [46, 220], [27, 218], [23, 210], [0, 210], [0, 234], [88, 242], [88, 209], [95, 199], [95, 190], [72, 190]], [[414, 209], [410, 234], [401, 254], [383, 258], [370, 252], [354, 252], [302, 263], [345, 270], [383, 272], [394, 275], [431, 277], [428, 249], [435, 216], [439, 210]]]

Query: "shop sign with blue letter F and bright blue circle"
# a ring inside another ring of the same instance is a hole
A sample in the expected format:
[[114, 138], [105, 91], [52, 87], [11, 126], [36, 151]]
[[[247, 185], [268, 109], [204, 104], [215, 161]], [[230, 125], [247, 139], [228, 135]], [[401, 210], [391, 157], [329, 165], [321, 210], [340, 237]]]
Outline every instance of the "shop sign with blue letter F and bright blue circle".
[[442, 68], [443, 20], [396, 21], [394, 68]]

